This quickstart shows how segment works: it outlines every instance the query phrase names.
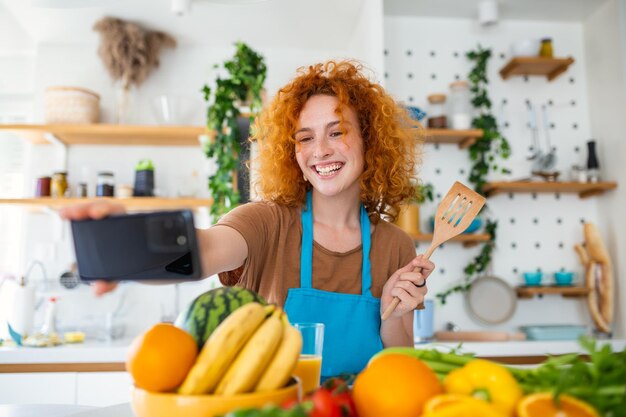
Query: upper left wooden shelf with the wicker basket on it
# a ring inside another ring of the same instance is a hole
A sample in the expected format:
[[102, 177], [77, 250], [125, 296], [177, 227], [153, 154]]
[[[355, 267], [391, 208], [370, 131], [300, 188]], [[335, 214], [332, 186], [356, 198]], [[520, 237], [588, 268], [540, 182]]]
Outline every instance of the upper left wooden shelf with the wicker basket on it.
[[203, 126], [2, 125], [0, 132], [13, 132], [35, 144], [48, 144], [53, 135], [65, 145], [198, 146], [207, 133]]

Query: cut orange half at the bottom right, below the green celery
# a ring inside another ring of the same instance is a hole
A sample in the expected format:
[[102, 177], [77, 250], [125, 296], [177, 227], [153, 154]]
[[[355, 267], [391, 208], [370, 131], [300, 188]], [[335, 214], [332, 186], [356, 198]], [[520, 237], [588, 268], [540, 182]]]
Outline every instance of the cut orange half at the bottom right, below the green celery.
[[555, 403], [550, 392], [530, 394], [517, 404], [519, 417], [598, 417], [598, 412], [588, 403], [562, 394]]

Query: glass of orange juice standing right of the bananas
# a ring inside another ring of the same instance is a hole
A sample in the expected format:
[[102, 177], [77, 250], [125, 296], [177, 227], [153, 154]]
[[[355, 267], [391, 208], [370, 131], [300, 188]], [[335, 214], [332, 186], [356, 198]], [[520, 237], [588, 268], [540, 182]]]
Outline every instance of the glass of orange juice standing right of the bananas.
[[302, 391], [308, 394], [320, 386], [324, 324], [294, 323], [293, 326], [302, 335], [302, 352], [293, 374], [300, 378]]

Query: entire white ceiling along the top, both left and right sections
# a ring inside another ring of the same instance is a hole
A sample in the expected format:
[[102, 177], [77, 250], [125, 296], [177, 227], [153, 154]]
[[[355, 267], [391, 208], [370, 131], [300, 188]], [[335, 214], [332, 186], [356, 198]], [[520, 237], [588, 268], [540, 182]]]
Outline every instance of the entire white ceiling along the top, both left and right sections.
[[[172, 0], [0, 0], [0, 14], [12, 16], [35, 44], [94, 44], [93, 23], [108, 15], [166, 31], [180, 44], [224, 46], [242, 40], [255, 47], [340, 49], [369, 0], [190, 1], [191, 11], [183, 16], [171, 12]], [[458, 18], [475, 18], [479, 1], [383, 0], [386, 15]], [[582, 21], [607, 0], [498, 1], [502, 19]], [[55, 2], [91, 7], [33, 6]]]

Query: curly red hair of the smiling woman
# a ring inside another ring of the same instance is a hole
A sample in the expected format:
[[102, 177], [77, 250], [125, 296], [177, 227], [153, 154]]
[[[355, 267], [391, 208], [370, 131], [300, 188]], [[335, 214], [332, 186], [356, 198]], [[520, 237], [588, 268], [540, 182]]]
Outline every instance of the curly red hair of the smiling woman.
[[401, 203], [415, 197], [421, 126], [387, 92], [371, 82], [362, 65], [328, 61], [303, 67], [256, 119], [252, 141], [259, 145], [256, 190], [261, 198], [287, 206], [302, 206], [307, 187], [296, 161], [294, 133], [307, 100], [334, 96], [337, 114], [351, 107], [359, 120], [365, 152], [361, 201], [373, 221], [394, 220]]

